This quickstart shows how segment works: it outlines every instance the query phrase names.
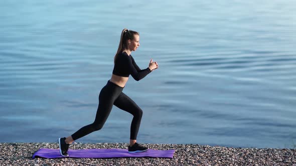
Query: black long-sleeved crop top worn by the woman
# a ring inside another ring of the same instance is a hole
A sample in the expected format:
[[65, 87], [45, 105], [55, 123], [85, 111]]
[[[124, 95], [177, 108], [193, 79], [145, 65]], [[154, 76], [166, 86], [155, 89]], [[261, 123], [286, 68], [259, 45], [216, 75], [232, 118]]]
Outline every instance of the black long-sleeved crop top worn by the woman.
[[128, 77], [130, 74], [135, 80], [140, 80], [150, 72], [149, 67], [140, 69], [140, 67], [136, 65], [133, 57], [124, 51], [118, 54], [112, 73], [124, 77]]

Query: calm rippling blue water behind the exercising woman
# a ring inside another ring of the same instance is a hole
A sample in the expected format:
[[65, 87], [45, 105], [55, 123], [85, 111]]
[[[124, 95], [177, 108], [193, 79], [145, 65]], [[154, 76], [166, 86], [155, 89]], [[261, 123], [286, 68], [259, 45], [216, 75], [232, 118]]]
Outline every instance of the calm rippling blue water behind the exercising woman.
[[[0, 142], [56, 142], [93, 122], [123, 28], [159, 68], [123, 89], [137, 140], [295, 148], [293, 0], [0, 1]], [[129, 142], [116, 106], [77, 142]]]

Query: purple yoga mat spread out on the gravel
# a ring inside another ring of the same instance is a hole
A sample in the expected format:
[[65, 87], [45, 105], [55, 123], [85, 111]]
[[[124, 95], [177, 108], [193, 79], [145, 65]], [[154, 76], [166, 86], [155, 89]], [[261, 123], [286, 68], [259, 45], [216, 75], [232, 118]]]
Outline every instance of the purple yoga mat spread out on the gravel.
[[[127, 149], [69, 149], [67, 157], [72, 158], [114, 158], [114, 157], [165, 157], [173, 158], [175, 149], [171, 150], [156, 150], [148, 149], [144, 152], [129, 153]], [[33, 158], [40, 156], [43, 158], [62, 158], [59, 149], [40, 148], [33, 155]]]

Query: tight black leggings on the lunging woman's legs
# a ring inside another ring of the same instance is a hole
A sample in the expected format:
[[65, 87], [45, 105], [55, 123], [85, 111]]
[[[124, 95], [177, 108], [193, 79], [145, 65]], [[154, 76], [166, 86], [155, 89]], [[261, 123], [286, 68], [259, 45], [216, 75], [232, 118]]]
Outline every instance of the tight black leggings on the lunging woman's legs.
[[81, 138], [93, 131], [103, 127], [107, 120], [113, 104], [133, 115], [130, 125], [130, 139], [136, 139], [143, 111], [141, 108], [123, 92], [123, 87], [108, 80], [107, 84], [101, 89], [99, 94], [99, 105], [93, 123], [85, 125], [71, 136], [74, 140]]

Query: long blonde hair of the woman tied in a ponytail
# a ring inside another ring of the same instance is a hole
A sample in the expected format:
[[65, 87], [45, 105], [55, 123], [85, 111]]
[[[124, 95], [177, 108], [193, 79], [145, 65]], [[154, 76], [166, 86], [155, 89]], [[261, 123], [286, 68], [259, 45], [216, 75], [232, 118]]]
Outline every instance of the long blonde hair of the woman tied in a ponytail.
[[131, 39], [133, 40], [134, 38], [134, 34], [137, 34], [139, 35], [138, 32], [136, 31], [133, 31], [133, 30], [128, 30], [127, 28], [124, 28], [121, 32], [121, 36], [120, 36], [120, 41], [119, 41], [119, 46], [118, 46], [118, 49], [117, 49], [117, 52], [114, 56], [114, 64], [115, 64], [115, 60], [117, 58], [117, 56], [124, 50], [124, 49], [127, 49], [127, 40], [128, 39]]

